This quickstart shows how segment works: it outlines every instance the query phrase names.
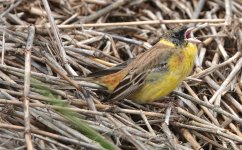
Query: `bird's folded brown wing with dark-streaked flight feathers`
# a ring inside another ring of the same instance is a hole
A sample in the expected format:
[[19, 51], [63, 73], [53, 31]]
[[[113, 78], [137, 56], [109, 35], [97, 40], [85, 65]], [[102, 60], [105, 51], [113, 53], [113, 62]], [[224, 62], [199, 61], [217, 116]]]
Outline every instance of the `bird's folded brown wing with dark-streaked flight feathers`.
[[127, 98], [145, 83], [144, 81], [150, 71], [162, 69], [162, 66], [167, 67], [167, 59], [175, 51], [175, 48], [157, 43], [150, 50], [137, 56], [127, 68], [122, 70], [127, 72], [127, 75], [109, 95], [108, 100]]

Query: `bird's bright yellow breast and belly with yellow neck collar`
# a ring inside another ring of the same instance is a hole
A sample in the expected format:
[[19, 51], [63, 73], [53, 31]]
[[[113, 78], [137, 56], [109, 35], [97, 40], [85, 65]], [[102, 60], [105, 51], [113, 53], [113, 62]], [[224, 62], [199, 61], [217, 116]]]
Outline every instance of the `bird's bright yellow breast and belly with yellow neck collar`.
[[[197, 47], [188, 43], [185, 47], [176, 47], [169, 41], [161, 40], [163, 44], [178, 48], [179, 52], [168, 59], [166, 72], [151, 72], [145, 84], [129, 98], [138, 103], [147, 103], [159, 100], [162, 96], [172, 92], [178, 84], [191, 72], [196, 58]], [[150, 82], [150, 78], [155, 78]]]

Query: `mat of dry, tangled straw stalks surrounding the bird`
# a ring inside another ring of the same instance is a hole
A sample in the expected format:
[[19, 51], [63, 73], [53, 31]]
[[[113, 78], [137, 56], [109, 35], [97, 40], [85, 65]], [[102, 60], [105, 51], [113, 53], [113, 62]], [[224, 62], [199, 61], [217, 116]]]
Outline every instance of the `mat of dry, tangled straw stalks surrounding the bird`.
[[[241, 23], [241, 0], [0, 0], [0, 149], [242, 149]], [[163, 101], [85, 81], [178, 25], [203, 43]]]

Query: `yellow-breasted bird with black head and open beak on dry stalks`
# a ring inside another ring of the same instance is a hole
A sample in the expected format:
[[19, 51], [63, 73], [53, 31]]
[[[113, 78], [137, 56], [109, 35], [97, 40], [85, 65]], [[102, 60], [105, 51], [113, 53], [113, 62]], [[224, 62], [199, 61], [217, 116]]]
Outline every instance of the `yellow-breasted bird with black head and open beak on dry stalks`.
[[106, 100], [129, 99], [145, 104], [170, 94], [194, 66], [198, 39], [195, 27], [181, 26], [164, 33], [160, 40], [136, 58], [110, 70], [89, 75], [91, 82], [108, 92]]

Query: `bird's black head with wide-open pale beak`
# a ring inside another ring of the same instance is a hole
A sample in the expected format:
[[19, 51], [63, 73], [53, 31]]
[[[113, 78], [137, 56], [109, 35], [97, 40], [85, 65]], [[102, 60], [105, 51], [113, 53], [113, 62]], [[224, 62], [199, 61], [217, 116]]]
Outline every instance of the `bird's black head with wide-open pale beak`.
[[200, 40], [192, 36], [195, 27], [182, 26], [164, 34], [163, 38], [177, 46], [185, 46], [188, 42], [201, 43]]

